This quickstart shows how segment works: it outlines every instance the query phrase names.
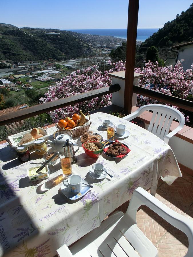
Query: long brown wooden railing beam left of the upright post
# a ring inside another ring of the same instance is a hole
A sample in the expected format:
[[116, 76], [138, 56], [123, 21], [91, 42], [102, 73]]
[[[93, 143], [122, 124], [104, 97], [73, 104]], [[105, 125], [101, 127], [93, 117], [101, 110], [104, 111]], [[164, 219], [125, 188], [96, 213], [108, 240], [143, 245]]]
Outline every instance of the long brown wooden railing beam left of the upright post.
[[86, 93], [81, 93], [78, 95], [65, 97], [59, 100], [54, 100], [51, 102], [34, 105], [26, 109], [10, 112], [9, 114], [3, 114], [3, 115], [0, 115], [0, 126], [13, 123], [16, 121], [21, 121], [23, 119], [33, 117], [41, 113], [46, 113], [62, 107], [84, 102], [86, 100], [93, 99], [95, 97], [108, 95], [110, 93], [114, 93], [119, 90], [120, 90], [120, 85], [115, 84], [110, 87], [103, 87], [103, 88], [92, 90]]

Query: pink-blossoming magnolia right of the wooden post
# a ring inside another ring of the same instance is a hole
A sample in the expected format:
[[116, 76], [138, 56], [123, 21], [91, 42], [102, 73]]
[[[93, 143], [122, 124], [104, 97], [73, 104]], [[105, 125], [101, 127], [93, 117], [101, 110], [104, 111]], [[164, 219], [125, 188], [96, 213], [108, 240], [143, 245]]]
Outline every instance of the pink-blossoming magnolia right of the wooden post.
[[[181, 62], [182, 61], [184, 60], [181, 60]], [[143, 74], [143, 77], [139, 79], [139, 86], [145, 87], [147, 89], [150, 89], [151, 87], [151, 90], [158, 91], [167, 95], [180, 97], [182, 99], [192, 99], [193, 64], [191, 65], [191, 69], [184, 71], [181, 62], [178, 60], [174, 67], [172, 67], [172, 65], [168, 67], [159, 67], [158, 62], [151, 63], [149, 61], [148, 63], [146, 63], [145, 61], [145, 67], [143, 68], [143, 70], [141, 70], [140, 68], [135, 69], [136, 73]], [[138, 107], [152, 103], [160, 102], [149, 97], [138, 95]], [[175, 106], [172, 107], [177, 108]], [[189, 116], [185, 117], [186, 122], [189, 122]]]

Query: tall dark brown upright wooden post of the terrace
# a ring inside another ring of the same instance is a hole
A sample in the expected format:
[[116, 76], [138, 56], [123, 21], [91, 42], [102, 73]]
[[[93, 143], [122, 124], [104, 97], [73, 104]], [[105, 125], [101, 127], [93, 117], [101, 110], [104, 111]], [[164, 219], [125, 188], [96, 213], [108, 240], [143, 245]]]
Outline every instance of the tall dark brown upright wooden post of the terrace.
[[129, 0], [127, 24], [126, 74], [124, 88], [124, 112], [126, 115], [131, 113], [132, 108], [138, 11], [139, 0]]

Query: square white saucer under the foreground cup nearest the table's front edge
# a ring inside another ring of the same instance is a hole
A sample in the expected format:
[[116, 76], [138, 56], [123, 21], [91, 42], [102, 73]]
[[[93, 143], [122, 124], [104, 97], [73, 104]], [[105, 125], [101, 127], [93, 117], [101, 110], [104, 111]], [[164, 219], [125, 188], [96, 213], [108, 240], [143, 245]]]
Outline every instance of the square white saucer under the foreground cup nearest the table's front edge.
[[[69, 187], [64, 185], [65, 182], [67, 182], [67, 179], [63, 181], [63, 183], [62, 183], [60, 189], [61, 189], [62, 193], [63, 193], [67, 198], [69, 198], [70, 200], [76, 200], [76, 199], [81, 198], [82, 196], [84, 196], [84, 195], [91, 189], [89, 186], [82, 185], [82, 188], [81, 188], [80, 192], [77, 193], [77, 194], [73, 194], [73, 193], [70, 191]], [[82, 183], [85, 183], [85, 184], [88, 185], [88, 182], [87, 182], [86, 180], [84, 180], [83, 178], [82, 178]], [[66, 184], [67, 184], [67, 183], [66, 183]]]

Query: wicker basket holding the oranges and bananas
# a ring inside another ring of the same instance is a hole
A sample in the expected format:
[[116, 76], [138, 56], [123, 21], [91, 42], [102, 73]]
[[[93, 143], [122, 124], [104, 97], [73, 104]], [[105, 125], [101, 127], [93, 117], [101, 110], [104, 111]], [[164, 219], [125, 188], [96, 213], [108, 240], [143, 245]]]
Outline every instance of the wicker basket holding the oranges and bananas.
[[91, 125], [91, 121], [90, 121], [90, 115], [89, 113], [85, 113], [85, 116], [88, 115], [88, 119], [85, 119], [85, 124], [83, 126], [79, 126], [79, 127], [75, 127], [72, 129], [62, 129], [57, 123], [56, 123], [56, 128], [58, 131], [55, 131], [53, 136], [55, 136], [56, 133], [58, 132], [62, 132], [63, 134], [68, 134], [72, 137], [76, 137], [76, 136], [81, 136], [82, 134], [84, 134], [85, 132], [87, 132], [90, 128]]

